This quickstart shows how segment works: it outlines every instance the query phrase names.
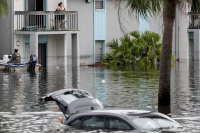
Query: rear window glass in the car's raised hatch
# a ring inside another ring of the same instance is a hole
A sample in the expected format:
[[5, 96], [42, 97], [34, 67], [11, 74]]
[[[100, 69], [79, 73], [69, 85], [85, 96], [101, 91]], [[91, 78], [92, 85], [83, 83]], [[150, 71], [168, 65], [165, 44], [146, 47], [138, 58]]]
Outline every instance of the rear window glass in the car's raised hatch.
[[78, 91], [78, 90], [68, 91], [68, 92], [60, 95], [60, 98], [62, 98], [68, 104], [75, 101], [76, 99], [84, 98], [84, 97], [93, 98], [93, 96], [90, 95], [89, 93], [84, 92], [84, 91]]

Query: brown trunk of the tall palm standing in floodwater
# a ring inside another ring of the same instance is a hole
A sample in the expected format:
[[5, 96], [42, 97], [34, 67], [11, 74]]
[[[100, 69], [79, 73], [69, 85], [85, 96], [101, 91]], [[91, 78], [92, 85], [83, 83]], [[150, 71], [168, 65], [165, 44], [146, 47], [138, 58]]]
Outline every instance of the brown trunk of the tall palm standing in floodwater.
[[160, 62], [158, 106], [170, 106], [170, 75], [173, 26], [177, 0], [165, 0], [163, 8], [164, 33]]

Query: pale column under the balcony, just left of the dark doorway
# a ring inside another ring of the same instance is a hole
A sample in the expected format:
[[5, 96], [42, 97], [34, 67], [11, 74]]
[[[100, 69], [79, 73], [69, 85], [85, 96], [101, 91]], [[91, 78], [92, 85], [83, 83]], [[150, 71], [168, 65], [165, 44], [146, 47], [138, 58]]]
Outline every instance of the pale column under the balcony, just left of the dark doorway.
[[35, 54], [38, 57], [38, 33], [30, 33], [30, 55]]

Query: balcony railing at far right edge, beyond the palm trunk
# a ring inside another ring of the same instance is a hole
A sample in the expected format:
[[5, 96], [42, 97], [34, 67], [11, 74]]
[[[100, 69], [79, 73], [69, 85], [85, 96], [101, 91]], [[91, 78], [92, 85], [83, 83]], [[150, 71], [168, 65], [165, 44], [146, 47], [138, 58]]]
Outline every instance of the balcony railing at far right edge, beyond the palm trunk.
[[189, 29], [200, 29], [200, 14], [188, 13]]

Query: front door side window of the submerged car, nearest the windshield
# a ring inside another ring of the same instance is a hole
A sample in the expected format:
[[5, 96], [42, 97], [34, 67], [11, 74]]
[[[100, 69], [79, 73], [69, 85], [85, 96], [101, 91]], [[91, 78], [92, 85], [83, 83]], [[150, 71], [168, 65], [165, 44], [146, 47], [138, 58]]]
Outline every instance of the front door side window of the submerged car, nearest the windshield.
[[131, 129], [126, 122], [116, 119], [116, 118], [110, 118], [109, 121], [109, 129], [122, 129], [122, 130], [129, 130]]

